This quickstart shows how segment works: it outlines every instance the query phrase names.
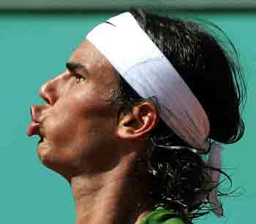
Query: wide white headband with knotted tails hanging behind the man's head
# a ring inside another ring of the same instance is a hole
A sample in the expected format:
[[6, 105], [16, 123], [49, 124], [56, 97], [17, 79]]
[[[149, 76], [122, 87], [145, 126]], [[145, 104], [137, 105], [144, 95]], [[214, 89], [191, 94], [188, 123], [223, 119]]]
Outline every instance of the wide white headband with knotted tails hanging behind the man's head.
[[[157, 97], [159, 116], [187, 143], [206, 151], [209, 145], [210, 124], [199, 101], [165, 55], [154, 45], [129, 12], [110, 18], [96, 26], [87, 36], [105, 55], [121, 77], [143, 98]], [[208, 166], [221, 169], [222, 146], [211, 144]], [[215, 185], [219, 172], [209, 171]], [[210, 186], [213, 187], [213, 186]], [[203, 201], [203, 194], [198, 200]], [[222, 216], [217, 188], [209, 193], [213, 212]]]

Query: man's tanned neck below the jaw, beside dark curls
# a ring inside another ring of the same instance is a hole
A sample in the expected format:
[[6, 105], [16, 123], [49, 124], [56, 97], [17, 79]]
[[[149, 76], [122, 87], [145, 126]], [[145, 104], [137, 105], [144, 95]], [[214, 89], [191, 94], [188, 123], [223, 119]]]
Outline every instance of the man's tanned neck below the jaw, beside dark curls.
[[146, 198], [146, 182], [132, 177], [129, 164], [71, 179], [75, 224], [139, 224], [152, 211], [154, 202]]

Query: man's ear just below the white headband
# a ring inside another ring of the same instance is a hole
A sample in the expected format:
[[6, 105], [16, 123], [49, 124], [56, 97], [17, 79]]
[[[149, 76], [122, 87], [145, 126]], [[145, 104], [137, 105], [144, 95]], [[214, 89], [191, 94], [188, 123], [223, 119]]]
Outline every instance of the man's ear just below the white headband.
[[156, 106], [148, 101], [142, 102], [121, 117], [117, 135], [121, 139], [141, 139], [157, 126], [158, 121]]

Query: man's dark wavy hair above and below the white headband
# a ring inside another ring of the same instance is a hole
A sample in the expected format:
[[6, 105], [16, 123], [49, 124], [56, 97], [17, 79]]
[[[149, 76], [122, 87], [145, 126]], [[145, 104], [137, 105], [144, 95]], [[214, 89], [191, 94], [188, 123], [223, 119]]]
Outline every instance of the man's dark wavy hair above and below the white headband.
[[[203, 23], [211, 26], [211, 32], [206, 31], [207, 26], [199, 26], [199, 23], [169, 18], [140, 8], [131, 8], [129, 12], [200, 101], [211, 124], [209, 139], [225, 144], [241, 139], [244, 134], [241, 107], [244, 106], [246, 88], [238, 53], [225, 33], [208, 22]], [[212, 31], [225, 37], [229, 50], [225, 50], [227, 46], [223, 39], [210, 34]], [[157, 105], [157, 99], [142, 99], [119, 75], [115, 99], [120, 106], [119, 114], [131, 110], [141, 101], [151, 101]], [[208, 195], [213, 188], [217, 188], [211, 182], [209, 170], [221, 172], [232, 185], [229, 175], [207, 166], [202, 156], [193, 152], [192, 147], [161, 119], [148, 135], [148, 142], [150, 147], [146, 164], [151, 182], [148, 195], [157, 199], [165, 209], [174, 210], [185, 223], [192, 223], [194, 218], [211, 211], [208, 200], [195, 203], [201, 193]], [[176, 149], [177, 146], [180, 148]], [[206, 155], [210, 150], [211, 147]], [[206, 187], [209, 183], [211, 188]], [[227, 193], [219, 191], [218, 195], [226, 196]]]

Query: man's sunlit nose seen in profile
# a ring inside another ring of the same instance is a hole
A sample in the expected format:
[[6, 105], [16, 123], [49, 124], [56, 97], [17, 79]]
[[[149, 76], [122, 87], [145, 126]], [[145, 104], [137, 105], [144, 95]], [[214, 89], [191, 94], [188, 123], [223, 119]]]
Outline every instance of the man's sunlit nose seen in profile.
[[58, 100], [57, 93], [57, 77], [53, 80], [45, 82], [41, 88], [39, 88], [39, 96], [44, 99], [48, 104], [53, 105]]

